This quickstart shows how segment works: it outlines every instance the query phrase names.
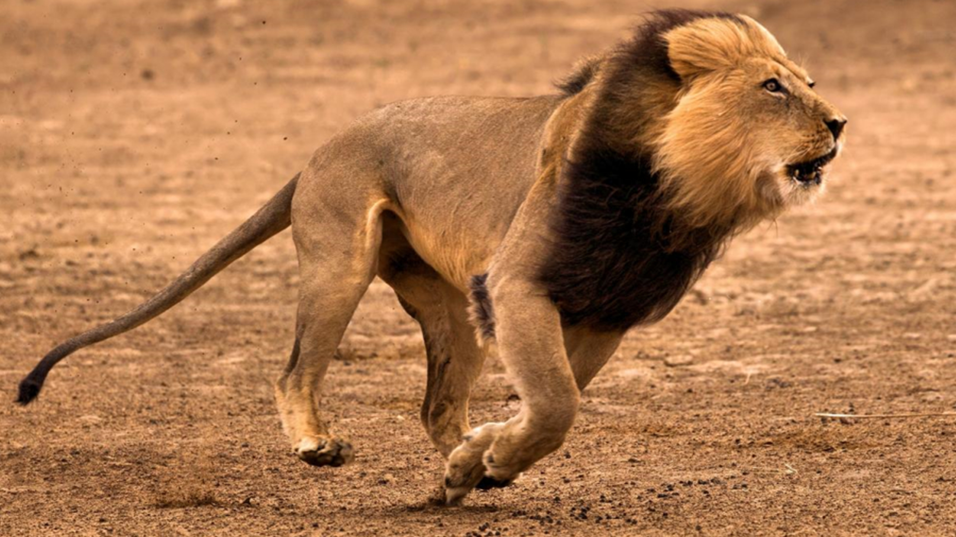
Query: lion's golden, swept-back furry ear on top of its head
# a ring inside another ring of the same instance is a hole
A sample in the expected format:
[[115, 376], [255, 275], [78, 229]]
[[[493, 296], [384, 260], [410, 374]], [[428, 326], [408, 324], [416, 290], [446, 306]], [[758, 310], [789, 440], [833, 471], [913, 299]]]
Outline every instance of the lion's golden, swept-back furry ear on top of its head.
[[663, 34], [670, 65], [684, 80], [737, 63], [749, 48], [745, 29], [728, 18], [706, 18]]

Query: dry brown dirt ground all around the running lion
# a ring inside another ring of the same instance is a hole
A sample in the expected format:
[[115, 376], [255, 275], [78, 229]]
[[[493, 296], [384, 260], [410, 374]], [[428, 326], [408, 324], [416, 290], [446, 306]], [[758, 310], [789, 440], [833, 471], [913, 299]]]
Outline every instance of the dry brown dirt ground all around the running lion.
[[[245, 220], [352, 118], [551, 91], [641, 11], [589, 0], [6, 0], [0, 397]], [[377, 282], [323, 403], [355, 464], [298, 462], [271, 381], [285, 232], [0, 404], [0, 535], [954, 535], [956, 3], [728, 2], [850, 118], [827, 196], [736, 240], [583, 394], [566, 446], [465, 506], [418, 420], [424, 349]], [[472, 421], [519, 404], [496, 358]]]

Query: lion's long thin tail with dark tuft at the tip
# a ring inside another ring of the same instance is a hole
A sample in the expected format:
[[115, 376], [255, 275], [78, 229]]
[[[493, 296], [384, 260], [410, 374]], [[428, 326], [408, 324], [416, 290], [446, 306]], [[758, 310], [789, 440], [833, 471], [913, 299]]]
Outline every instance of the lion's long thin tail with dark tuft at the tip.
[[49, 354], [43, 356], [43, 359], [36, 364], [30, 375], [20, 381], [20, 391], [16, 401], [20, 404], [27, 404], [36, 398], [40, 394], [40, 389], [43, 388], [43, 381], [46, 380], [47, 374], [63, 358], [83, 347], [133, 330], [142, 323], [160, 315], [163, 311], [179, 304], [192, 291], [201, 288], [203, 284], [209, 281], [209, 278], [215, 276], [220, 270], [226, 269], [230, 263], [248, 253], [252, 248], [259, 246], [272, 235], [289, 227], [292, 224], [292, 200], [298, 177], [298, 174], [296, 174], [293, 180], [273, 196], [269, 203], [260, 208], [242, 226], [233, 230], [216, 246], [204, 253], [165, 289], [156, 293], [135, 310], [129, 311], [93, 330], [71, 337]]

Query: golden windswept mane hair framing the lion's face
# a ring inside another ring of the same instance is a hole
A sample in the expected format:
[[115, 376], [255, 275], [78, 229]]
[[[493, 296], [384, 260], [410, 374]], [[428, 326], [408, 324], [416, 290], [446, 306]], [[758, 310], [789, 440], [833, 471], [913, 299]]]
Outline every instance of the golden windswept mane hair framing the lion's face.
[[[750, 227], [783, 208], [764, 192], [773, 187], [762, 147], [748, 118], [728, 114], [742, 83], [721, 68], [754, 56], [793, 65], [776, 39], [750, 17], [703, 18], [662, 35], [670, 64], [687, 85], [653, 144], [654, 170], [670, 206], [688, 225]], [[757, 188], [754, 188], [754, 184]]]

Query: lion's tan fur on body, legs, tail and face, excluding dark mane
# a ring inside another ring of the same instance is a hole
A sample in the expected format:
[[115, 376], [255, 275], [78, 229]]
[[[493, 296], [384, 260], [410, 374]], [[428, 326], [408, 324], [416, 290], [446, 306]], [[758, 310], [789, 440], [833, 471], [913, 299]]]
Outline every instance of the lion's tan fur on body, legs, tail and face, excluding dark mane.
[[[704, 18], [667, 32], [679, 81], [635, 79], [611, 92], [621, 68], [614, 52], [585, 63], [567, 84], [573, 95], [429, 97], [359, 118], [168, 293], [58, 347], [21, 385], [21, 400], [35, 397], [65, 355], [155, 317], [291, 222], [300, 303], [293, 355], [275, 393], [298, 457], [315, 465], [353, 460], [350, 443], [320, 418], [320, 386], [379, 275], [422, 326], [422, 420], [447, 459], [445, 500], [456, 503], [479, 483], [510, 483], [561, 445], [580, 390], [623, 335], [564, 325], [539, 279], [553, 255], [568, 162], [593, 141], [589, 121], [600, 116], [604, 142], [622, 153], [654, 149], [664, 199], [687, 228], [746, 228], [819, 190], [795, 183], [787, 169], [833, 150], [824, 121], [840, 116], [769, 32], [740, 20]], [[771, 76], [790, 89], [789, 106], [761, 89]], [[468, 397], [488, 349], [472, 337], [467, 292], [471, 278], [486, 273], [497, 349], [522, 407], [468, 433]]]

